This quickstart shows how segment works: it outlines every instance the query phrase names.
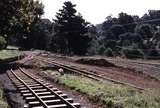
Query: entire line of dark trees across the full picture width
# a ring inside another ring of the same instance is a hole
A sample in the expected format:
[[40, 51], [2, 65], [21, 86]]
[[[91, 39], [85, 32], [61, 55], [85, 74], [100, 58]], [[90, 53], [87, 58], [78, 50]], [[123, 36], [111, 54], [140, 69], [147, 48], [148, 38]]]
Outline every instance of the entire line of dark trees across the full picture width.
[[120, 13], [94, 26], [75, 7], [64, 2], [50, 21], [41, 18], [44, 6], [39, 1], [0, 1], [0, 48], [10, 44], [65, 55], [160, 57], [160, 10], [149, 10], [142, 17]]

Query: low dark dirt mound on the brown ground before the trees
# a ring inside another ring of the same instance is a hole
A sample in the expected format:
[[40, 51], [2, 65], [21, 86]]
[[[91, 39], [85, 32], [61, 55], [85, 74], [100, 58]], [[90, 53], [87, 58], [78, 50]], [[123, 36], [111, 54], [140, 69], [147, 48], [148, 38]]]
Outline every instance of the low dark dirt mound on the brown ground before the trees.
[[105, 59], [81, 58], [76, 60], [76, 62], [81, 64], [96, 65], [96, 66], [115, 67], [113, 63], [110, 63]]

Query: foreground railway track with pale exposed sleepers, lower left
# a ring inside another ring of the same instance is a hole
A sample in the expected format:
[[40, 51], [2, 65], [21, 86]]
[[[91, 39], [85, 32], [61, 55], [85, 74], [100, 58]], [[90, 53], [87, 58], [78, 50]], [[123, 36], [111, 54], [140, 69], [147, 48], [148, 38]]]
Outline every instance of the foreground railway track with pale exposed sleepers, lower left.
[[14, 72], [11, 69], [8, 76], [25, 99], [25, 108], [81, 108], [80, 103], [74, 103], [72, 98], [51, 84], [22, 68], [18, 70]]

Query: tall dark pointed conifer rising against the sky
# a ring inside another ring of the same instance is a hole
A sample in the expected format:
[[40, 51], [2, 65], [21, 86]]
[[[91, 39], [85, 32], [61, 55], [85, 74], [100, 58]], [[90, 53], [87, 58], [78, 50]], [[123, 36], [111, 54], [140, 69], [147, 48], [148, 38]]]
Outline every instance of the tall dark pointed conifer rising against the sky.
[[89, 47], [89, 24], [81, 14], [76, 15], [75, 6], [70, 1], [64, 2], [63, 9], [56, 14], [52, 49], [63, 54], [83, 55]]

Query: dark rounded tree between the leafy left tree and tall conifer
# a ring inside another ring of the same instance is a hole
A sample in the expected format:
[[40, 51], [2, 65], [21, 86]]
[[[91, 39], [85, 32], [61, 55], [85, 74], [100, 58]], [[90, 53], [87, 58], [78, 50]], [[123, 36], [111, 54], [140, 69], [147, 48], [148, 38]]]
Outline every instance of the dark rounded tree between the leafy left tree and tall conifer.
[[35, 23], [29, 34], [30, 48], [48, 50], [51, 42], [52, 23], [41, 19]]

